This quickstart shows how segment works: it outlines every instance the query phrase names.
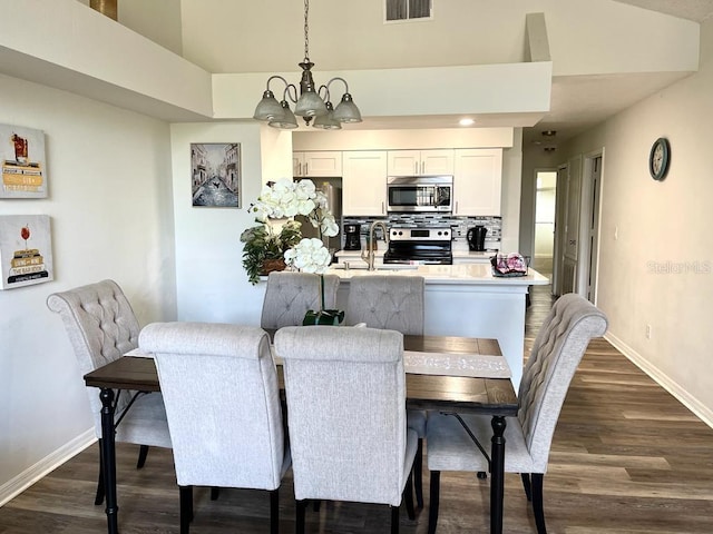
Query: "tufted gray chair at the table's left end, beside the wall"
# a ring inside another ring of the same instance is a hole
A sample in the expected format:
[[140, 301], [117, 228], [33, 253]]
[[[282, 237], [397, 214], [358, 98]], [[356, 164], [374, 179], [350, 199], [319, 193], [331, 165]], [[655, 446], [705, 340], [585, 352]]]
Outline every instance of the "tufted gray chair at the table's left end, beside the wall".
[[[55, 293], [47, 298], [47, 307], [59, 314], [65, 324], [79, 364], [80, 378], [138, 346], [138, 320], [124, 291], [114, 280]], [[87, 394], [95, 432], [101, 441], [99, 389], [88, 387]], [[135, 397], [136, 400], [127, 411]], [[116, 441], [141, 446], [137, 467], [144, 465], [149, 445], [170, 448], [166, 412], [159, 393], [117, 392], [116, 419], [120, 421], [116, 426]], [[95, 504], [101, 504], [102, 501], [104, 479], [99, 468]]]

